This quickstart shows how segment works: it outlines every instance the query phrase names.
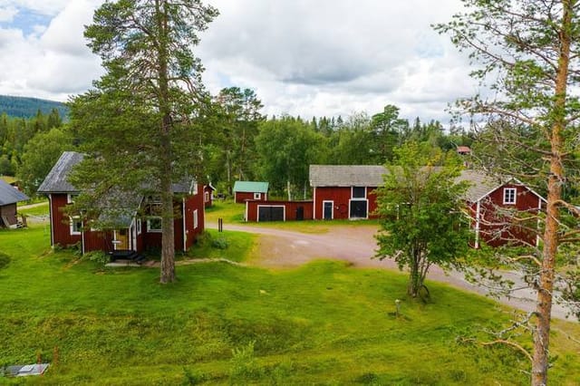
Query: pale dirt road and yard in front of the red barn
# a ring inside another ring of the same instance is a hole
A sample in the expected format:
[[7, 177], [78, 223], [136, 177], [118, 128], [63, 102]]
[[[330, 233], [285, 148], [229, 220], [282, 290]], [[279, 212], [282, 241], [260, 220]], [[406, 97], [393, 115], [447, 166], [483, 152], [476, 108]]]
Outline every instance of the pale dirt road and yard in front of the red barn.
[[[291, 268], [314, 259], [338, 259], [348, 261], [353, 266], [371, 267], [398, 270], [397, 265], [390, 259], [372, 259], [375, 255], [376, 241], [374, 235], [376, 226], [335, 226], [328, 227], [324, 233], [302, 233], [293, 230], [283, 230], [251, 225], [225, 225], [226, 230], [237, 230], [260, 235], [257, 240], [256, 258], [251, 264], [272, 267]], [[516, 273], [504, 274], [522, 287], [507, 297], [498, 301], [523, 311], [535, 309], [536, 294], [521, 283]], [[455, 287], [474, 292], [488, 294], [488, 290], [481, 286], [471, 285], [460, 272], [444, 273], [438, 266], [430, 269], [428, 280], [447, 283]], [[552, 317], [565, 319], [565, 308], [554, 304]]]

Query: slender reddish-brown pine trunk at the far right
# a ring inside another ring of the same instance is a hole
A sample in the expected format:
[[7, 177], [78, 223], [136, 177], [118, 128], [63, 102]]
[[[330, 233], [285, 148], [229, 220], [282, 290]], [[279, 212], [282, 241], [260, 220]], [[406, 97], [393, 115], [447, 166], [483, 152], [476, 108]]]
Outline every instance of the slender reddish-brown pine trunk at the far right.
[[532, 359], [532, 385], [547, 384], [549, 365], [550, 319], [552, 313], [556, 253], [558, 250], [559, 201], [562, 198], [563, 130], [565, 130], [565, 96], [570, 63], [570, 33], [572, 28], [572, 5], [570, 0], [562, 0], [563, 17], [560, 26], [560, 56], [556, 74], [554, 101], [554, 123], [549, 136], [552, 155], [550, 157], [550, 176], [548, 179], [546, 229], [544, 231], [544, 250], [539, 275], [536, 300], [536, 331], [534, 333], [534, 355]]

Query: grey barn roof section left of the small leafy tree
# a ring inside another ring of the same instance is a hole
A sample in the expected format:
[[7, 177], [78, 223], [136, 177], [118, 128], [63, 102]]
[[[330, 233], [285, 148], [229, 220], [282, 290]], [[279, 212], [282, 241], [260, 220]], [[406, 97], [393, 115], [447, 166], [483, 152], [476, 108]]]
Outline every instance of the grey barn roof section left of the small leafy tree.
[[310, 165], [310, 186], [379, 187], [386, 172], [377, 165]]

